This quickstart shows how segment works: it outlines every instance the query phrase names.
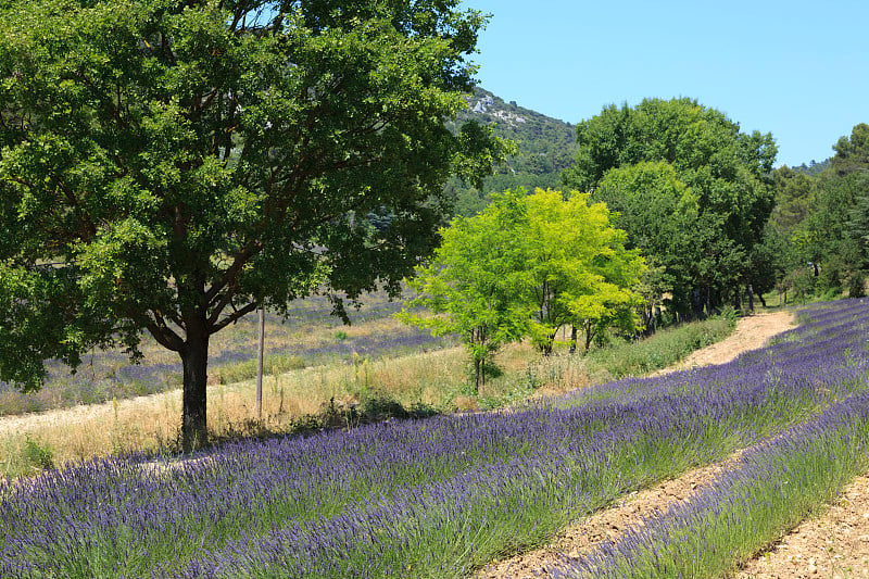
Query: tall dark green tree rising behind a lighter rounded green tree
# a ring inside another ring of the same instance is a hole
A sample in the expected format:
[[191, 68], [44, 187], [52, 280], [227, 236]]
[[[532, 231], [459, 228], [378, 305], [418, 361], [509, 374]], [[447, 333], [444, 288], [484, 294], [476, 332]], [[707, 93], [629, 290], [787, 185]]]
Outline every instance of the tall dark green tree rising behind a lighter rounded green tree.
[[[593, 198], [599, 197], [608, 172], [641, 163], [670, 165], [678, 181], [695, 197], [692, 243], [700, 251], [690, 279], [672, 288], [677, 311], [698, 314], [727, 297], [738, 297], [740, 289], [751, 284], [752, 253], [772, 209], [770, 172], [777, 149], [770, 135], [742, 133], [723, 113], [691, 99], [646, 99], [633, 108], [609, 105], [580, 123], [577, 144], [576, 163], [564, 172], [563, 180], [570, 187], [594, 191]], [[669, 171], [658, 166], [644, 173], [663, 175]], [[610, 178], [607, 194], [613, 199], [621, 194], [614, 191], [618, 186], [626, 188], [624, 194], [640, 200], [641, 191], [634, 186], [642, 186], [642, 179], [634, 177]], [[663, 203], [671, 204], [667, 200]], [[646, 206], [659, 213], [664, 205]], [[632, 247], [651, 249], [644, 247], [646, 230], [631, 229], [627, 224], [626, 229]], [[659, 226], [655, 229], [662, 230]], [[655, 251], [650, 255], [665, 266], [679, 261], [678, 255]], [[676, 277], [679, 272], [669, 274]]]

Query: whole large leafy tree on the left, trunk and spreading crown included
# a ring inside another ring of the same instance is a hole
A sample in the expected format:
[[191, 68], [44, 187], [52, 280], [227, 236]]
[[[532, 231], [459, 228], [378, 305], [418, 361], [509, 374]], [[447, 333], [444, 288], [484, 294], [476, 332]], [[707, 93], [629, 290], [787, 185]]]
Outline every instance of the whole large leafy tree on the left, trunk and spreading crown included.
[[[459, 0], [0, 5], [0, 378], [148, 331], [204, 442], [210, 337], [328, 291], [395, 292], [491, 167]], [[376, 224], [376, 226], [375, 226]]]

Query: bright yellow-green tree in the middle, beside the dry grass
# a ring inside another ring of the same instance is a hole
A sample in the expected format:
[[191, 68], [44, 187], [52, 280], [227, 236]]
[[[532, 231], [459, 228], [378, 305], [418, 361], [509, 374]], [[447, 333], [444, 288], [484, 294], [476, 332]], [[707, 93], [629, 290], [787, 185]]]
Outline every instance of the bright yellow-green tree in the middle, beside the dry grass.
[[496, 193], [442, 237], [433, 260], [410, 280], [417, 295], [400, 317], [457, 332], [478, 387], [487, 360], [506, 342], [527, 336], [547, 354], [565, 324], [593, 332], [635, 323], [640, 298], [631, 287], [645, 264], [625, 249], [625, 232], [610, 225], [606, 205], [589, 204], [588, 193], [567, 200], [542, 189]]

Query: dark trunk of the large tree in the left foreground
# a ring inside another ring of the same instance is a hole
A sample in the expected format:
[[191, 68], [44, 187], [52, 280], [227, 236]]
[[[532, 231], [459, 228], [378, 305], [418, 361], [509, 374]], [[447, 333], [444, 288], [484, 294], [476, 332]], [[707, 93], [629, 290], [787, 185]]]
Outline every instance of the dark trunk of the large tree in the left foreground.
[[205, 387], [209, 379], [209, 333], [203, 324], [187, 325], [187, 341], [180, 351], [184, 366], [181, 449], [192, 452], [209, 439]]

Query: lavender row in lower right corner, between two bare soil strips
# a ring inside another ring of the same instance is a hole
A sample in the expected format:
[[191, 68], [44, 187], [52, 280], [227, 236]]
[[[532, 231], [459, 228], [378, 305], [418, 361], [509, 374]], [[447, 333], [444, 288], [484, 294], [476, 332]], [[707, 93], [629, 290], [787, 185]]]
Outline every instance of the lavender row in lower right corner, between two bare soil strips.
[[736, 468], [613, 544], [551, 569], [559, 579], [723, 577], [869, 468], [869, 393], [750, 449]]

